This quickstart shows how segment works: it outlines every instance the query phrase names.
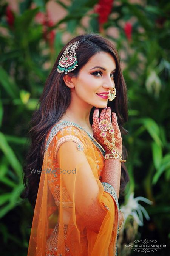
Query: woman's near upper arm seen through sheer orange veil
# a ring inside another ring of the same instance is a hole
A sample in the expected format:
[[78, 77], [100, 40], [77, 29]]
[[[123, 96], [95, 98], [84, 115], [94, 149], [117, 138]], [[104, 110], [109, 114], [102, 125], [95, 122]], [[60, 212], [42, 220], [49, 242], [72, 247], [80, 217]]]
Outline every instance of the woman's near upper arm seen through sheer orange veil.
[[[75, 202], [75, 209], [85, 225], [95, 232], [99, 232], [108, 210], [98, 199], [99, 185], [96, 177], [93, 175], [84, 151], [78, 151], [77, 143], [74, 141], [66, 141], [58, 149], [57, 160], [61, 171], [76, 169], [75, 174], [61, 173], [61, 179], [68, 190], [71, 200]], [[98, 180], [98, 182], [100, 181]], [[106, 194], [105, 196], [107, 197], [108, 195]], [[112, 201], [106, 202], [109, 208], [113, 207]], [[112, 206], [109, 205], [109, 202], [111, 202], [110, 204]]]

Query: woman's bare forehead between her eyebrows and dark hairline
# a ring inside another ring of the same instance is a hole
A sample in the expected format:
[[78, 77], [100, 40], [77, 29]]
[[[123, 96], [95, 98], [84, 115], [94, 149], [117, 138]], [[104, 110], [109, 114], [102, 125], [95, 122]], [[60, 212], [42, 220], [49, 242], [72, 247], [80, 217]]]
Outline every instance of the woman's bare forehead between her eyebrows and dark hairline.
[[106, 69], [115, 69], [116, 62], [113, 56], [107, 52], [98, 52], [94, 54], [85, 65], [87, 68], [93, 68], [94, 66], [102, 66]]

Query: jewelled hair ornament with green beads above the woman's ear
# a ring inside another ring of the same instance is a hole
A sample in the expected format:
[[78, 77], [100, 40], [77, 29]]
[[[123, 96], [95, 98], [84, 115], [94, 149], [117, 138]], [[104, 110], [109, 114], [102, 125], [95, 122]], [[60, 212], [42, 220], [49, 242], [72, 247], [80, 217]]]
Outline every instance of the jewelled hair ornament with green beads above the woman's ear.
[[58, 62], [59, 65], [57, 66], [57, 71], [59, 73], [65, 72], [65, 74], [67, 74], [67, 72], [71, 72], [77, 66], [79, 66], [77, 64], [78, 62], [77, 62], [77, 56], [76, 56], [76, 50], [77, 50], [78, 44], [79, 44], [79, 41], [71, 43], [64, 50]]

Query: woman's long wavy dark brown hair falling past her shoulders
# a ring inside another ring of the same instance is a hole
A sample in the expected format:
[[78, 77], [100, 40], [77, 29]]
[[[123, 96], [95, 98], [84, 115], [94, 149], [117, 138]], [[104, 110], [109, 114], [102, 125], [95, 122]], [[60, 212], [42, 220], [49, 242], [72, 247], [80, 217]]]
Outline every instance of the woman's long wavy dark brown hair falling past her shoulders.
[[[26, 155], [25, 164], [23, 166], [23, 183], [25, 190], [22, 192], [21, 198], [28, 198], [32, 207], [35, 207], [37, 192], [40, 181], [40, 174], [34, 173], [32, 169], [42, 169], [43, 164], [43, 148], [45, 146], [46, 136], [51, 127], [59, 121], [66, 109], [70, 105], [71, 91], [63, 81], [65, 73], [57, 72], [58, 61], [68, 46], [68, 44], [79, 41], [77, 47], [77, 61], [79, 66], [70, 72], [69, 75], [77, 77], [80, 69], [88, 62], [88, 60], [96, 53], [103, 51], [110, 53], [116, 62], [115, 73], [115, 87], [116, 98], [114, 101], [108, 101], [108, 106], [111, 107], [117, 115], [118, 125], [122, 135], [127, 135], [128, 131], [123, 128], [123, 124], [128, 120], [127, 112], [127, 86], [125, 84], [124, 77], [120, 66], [119, 53], [114, 45], [106, 38], [90, 33], [80, 36], [76, 36], [68, 42], [61, 52], [59, 53], [57, 60], [53, 66], [51, 73], [49, 74], [43, 93], [39, 99], [38, 107], [33, 113], [32, 119], [29, 123], [28, 136], [31, 139], [30, 149]], [[90, 124], [93, 124], [93, 107], [90, 112]], [[102, 109], [99, 109], [99, 114]], [[127, 159], [127, 150], [122, 145], [122, 159]], [[129, 181], [129, 175], [124, 163], [121, 163], [121, 184], [120, 195], [124, 195], [124, 190], [127, 182]]]

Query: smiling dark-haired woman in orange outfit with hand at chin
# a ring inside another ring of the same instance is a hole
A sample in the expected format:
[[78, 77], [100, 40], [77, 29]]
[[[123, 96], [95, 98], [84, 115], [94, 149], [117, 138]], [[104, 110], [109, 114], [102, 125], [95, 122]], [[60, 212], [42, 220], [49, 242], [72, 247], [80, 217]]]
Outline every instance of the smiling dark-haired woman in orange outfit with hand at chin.
[[125, 121], [127, 88], [113, 44], [92, 33], [73, 38], [31, 122], [23, 195], [34, 207], [28, 256], [117, 255], [119, 190], [129, 179]]

